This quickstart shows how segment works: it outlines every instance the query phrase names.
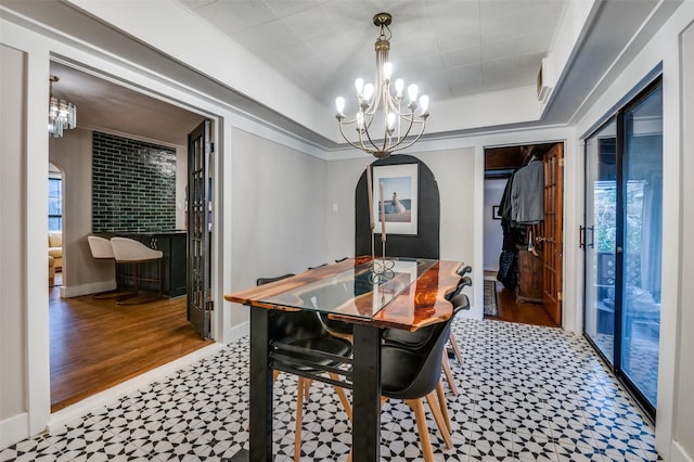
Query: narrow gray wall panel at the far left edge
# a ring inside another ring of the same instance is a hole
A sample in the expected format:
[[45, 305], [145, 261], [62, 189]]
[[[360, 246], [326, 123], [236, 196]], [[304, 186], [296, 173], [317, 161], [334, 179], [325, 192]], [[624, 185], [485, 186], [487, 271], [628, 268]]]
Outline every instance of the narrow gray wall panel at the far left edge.
[[26, 55], [0, 46], [0, 422], [26, 411], [25, 82]]

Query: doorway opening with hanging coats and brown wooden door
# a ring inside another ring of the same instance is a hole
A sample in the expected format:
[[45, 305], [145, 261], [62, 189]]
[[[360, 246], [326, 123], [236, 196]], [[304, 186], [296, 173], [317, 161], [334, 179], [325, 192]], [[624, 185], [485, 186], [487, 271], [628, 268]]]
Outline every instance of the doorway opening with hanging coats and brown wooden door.
[[562, 325], [563, 147], [485, 149], [487, 319]]

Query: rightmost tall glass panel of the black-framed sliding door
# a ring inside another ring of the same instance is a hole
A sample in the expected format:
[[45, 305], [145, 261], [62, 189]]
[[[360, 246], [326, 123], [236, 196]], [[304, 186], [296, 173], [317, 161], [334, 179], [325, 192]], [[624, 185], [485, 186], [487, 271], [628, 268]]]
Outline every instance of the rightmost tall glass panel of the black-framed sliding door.
[[660, 328], [663, 92], [625, 113], [621, 370], [655, 407]]

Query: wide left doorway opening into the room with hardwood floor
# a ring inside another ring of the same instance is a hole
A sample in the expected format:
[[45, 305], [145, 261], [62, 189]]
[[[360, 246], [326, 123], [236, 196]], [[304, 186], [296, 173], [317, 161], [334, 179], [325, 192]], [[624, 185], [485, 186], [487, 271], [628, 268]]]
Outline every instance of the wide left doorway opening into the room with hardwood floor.
[[[144, 217], [139, 219], [137, 232], [187, 234], [188, 136], [205, 117], [72, 65], [51, 62], [51, 74], [60, 76], [61, 91], [69, 95], [80, 115], [76, 129], [66, 130], [63, 138], [51, 139], [49, 143], [49, 159], [63, 171], [62, 231], [66, 257], [63, 285], [52, 287], [49, 295], [51, 411], [55, 412], [214, 341], [203, 338], [189, 322], [185, 238], [183, 294], [178, 291], [180, 284], [174, 286], [174, 274], [167, 274], [165, 269], [165, 279], [171, 282], [168, 296], [129, 306], [117, 305], [115, 299], [94, 299], [94, 293], [113, 284], [115, 265], [92, 258], [87, 243], [87, 236], [94, 230], [94, 133], [170, 146], [176, 153], [171, 180], [176, 222], [169, 230], [154, 230], [153, 221]], [[214, 169], [210, 183], [215, 181], [213, 177]], [[115, 175], [112, 180], [125, 181]], [[128, 188], [139, 182], [145, 184], [145, 180], [130, 179]], [[147, 188], [140, 194], [145, 201], [152, 200]], [[113, 205], [123, 209], [125, 204], [114, 200]], [[211, 206], [209, 214], [211, 219]], [[141, 242], [153, 245], [152, 241]], [[208, 259], [210, 254], [203, 257]], [[165, 251], [166, 258], [172, 256], [167, 257]]]

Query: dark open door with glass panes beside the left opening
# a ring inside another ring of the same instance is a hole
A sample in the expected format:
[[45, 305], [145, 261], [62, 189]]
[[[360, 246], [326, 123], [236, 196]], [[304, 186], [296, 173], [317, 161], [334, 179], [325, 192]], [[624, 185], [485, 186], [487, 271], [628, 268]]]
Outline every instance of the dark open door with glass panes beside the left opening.
[[188, 320], [203, 337], [209, 337], [209, 242], [211, 231], [211, 179], [209, 178], [210, 120], [188, 136]]

